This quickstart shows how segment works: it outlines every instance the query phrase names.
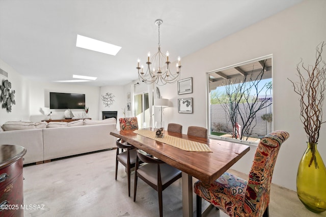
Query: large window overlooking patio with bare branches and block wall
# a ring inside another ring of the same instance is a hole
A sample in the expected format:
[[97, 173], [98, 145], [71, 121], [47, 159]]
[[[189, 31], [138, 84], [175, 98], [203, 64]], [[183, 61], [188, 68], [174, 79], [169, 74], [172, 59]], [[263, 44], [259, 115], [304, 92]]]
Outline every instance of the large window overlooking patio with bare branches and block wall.
[[271, 55], [207, 73], [211, 137], [258, 143], [273, 131]]

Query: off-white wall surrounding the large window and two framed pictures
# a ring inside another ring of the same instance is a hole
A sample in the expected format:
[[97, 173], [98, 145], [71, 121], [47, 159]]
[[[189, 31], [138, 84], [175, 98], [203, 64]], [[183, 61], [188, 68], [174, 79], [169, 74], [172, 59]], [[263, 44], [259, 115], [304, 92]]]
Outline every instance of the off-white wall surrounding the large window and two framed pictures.
[[[173, 107], [164, 110], [165, 121], [180, 123], [183, 133], [190, 125], [207, 127], [206, 72], [273, 54], [274, 129], [290, 133], [290, 138], [280, 150], [273, 182], [295, 191], [297, 166], [305, 151], [307, 138], [299, 119], [298, 96], [287, 78], [296, 79], [296, 64], [301, 57], [305, 63], [314, 63], [316, 46], [326, 41], [325, 10], [326, 1], [304, 1], [182, 57], [181, 78], [193, 77], [193, 93], [178, 96], [177, 84], [161, 86], [161, 94], [173, 104]], [[325, 49], [323, 60], [326, 60]], [[178, 113], [177, 99], [184, 97], [193, 97], [193, 114]], [[326, 124], [323, 124], [320, 133], [318, 150], [326, 161]], [[251, 146], [251, 151], [233, 169], [248, 173], [255, 150], [256, 146]]]

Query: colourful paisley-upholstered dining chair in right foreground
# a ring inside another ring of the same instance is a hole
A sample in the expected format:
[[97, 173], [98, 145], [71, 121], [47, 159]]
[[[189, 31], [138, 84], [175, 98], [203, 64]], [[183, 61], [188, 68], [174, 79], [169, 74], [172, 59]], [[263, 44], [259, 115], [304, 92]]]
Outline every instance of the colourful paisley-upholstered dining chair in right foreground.
[[281, 144], [288, 137], [285, 131], [275, 131], [260, 140], [248, 181], [225, 172], [213, 183], [195, 182], [197, 216], [201, 216], [202, 198], [229, 216], [269, 216], [271, 178]]

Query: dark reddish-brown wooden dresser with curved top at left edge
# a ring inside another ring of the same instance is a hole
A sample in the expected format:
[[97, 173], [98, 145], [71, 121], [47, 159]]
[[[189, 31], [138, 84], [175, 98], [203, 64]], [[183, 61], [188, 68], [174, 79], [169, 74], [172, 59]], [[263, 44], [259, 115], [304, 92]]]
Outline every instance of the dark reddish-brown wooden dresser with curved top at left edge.
[[24, 147], [0, 145], [0, 217], [24, 216], [23, 159]]

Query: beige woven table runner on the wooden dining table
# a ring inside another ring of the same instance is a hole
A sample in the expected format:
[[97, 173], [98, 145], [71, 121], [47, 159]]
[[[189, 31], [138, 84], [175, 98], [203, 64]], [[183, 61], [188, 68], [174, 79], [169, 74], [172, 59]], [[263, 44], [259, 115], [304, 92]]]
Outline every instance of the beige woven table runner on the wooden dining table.
[[164, 135], [162, 138], [155, 137], [155, 132], [150, 130], [135, 130], [134, 133], [145, 136], [150, 139], [180, 148], [185, 151], [203, 151], [203, 152], [212, 152], [207, 144], [194, 142], [170, 135]]

